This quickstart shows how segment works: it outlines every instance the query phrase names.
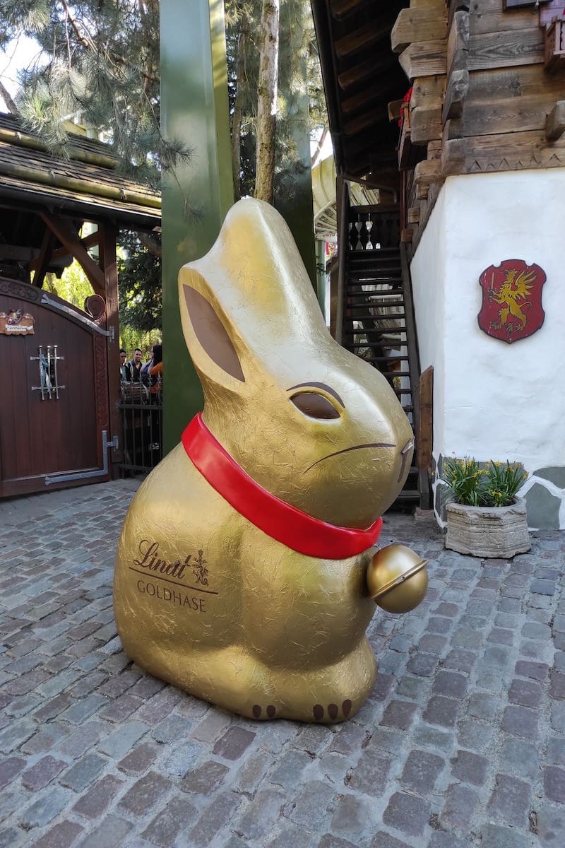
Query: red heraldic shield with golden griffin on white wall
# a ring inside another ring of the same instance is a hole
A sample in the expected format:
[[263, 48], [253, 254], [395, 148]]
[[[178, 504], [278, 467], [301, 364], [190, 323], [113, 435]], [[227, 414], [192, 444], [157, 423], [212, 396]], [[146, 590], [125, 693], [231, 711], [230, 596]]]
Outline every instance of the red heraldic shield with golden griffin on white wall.
[[483, 305], [479, 327], [501, 342], [517, 342], [533, 335], [544, 322], [541, 289], [546, 272], [540, 265], [526, 265], [523, 259], [506, 259], [489, 265], [479, 277]]

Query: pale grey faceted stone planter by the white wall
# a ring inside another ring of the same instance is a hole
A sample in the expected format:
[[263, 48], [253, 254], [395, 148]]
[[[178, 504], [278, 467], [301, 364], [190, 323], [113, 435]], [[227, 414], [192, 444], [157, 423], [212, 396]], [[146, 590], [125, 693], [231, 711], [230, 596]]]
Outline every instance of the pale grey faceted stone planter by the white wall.
[[529, 550], [526, 504], [517, 498], [510, 506], [447, 504], [446, 548], [471, 556], [507, 560]]

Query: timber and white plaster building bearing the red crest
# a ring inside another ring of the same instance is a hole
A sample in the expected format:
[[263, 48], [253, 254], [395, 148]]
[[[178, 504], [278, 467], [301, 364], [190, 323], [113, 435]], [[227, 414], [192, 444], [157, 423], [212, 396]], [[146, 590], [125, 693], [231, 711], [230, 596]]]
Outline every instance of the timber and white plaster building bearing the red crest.
[[[565, 3], [312, 7], [338, 175], [398, 210], [414, 355], [434, 376], [418, 462], [437, 516], [443, 457], [474, 455], [521, 462], [530, 526], [565, 528]], [[522, 291], [504, 301], [511, 260]]]

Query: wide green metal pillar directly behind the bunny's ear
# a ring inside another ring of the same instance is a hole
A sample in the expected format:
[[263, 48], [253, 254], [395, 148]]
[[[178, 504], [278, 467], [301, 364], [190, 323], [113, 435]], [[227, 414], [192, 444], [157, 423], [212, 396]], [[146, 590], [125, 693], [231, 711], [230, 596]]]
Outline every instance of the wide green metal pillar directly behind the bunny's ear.
[[223, 0], [161, 0], [161, 126], [191, 160], [163, 177], [163, 453], [202, 409], [177, 276], [206, 254], [234, 202]]

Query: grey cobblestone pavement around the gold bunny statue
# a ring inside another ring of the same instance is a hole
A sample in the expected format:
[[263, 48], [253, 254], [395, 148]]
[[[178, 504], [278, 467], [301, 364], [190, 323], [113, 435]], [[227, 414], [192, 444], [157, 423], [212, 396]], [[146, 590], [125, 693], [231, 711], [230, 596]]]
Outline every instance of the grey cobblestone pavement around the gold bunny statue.
[[384, 544], [429, 593], [378, 612], [379, 678], [351, 722], [233, 717], [144, 674], [116, 637], [129, 481], [0, 508], [0, 846], [563, 848], [564, 533], [529, 554], [444, 550], [429, 518]]

